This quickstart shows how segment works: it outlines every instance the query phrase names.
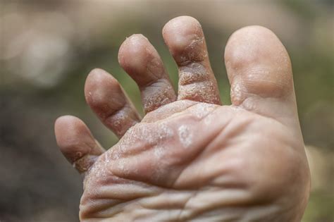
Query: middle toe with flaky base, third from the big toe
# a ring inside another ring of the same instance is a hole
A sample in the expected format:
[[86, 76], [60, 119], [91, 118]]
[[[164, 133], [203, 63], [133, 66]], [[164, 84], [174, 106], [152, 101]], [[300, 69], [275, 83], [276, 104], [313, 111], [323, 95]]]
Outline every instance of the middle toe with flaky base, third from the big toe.
[[125, 39], [118, 61], [140, 87], [146, 113], [175, 101], [175, 92], [161, 58], [146, 37], [132, 35]]

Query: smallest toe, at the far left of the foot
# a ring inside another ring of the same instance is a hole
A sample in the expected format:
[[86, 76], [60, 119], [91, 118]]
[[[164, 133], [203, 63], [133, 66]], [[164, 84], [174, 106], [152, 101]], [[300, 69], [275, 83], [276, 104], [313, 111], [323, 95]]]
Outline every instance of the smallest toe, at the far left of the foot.
[[104, 152], [92, 133], [79, 118], [61, 116], [54, 125], [56, 141], [63, 155], [70, 164], [85, 173]]

